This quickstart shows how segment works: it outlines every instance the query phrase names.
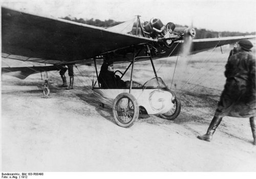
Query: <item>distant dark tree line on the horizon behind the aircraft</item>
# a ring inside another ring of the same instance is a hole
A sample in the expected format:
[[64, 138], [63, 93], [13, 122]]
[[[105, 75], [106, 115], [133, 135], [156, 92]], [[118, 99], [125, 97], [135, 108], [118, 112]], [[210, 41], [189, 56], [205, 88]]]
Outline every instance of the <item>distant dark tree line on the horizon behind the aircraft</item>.
[[[118, 24], [123, 23], [122, 21], [115, 21], [113, 19], [109, 19], [109, 20], [99, 20], [99, 19], [86, 19], [84, 20], [83, 18], [79, 18], [77, 19], [75, 18], [71, 18], [69, 16], [63, 17], [62, 19], [66, 19], [66, 20], [71, 20], [71, 21], [75, 21], [77, 23], [82, 23], [82, 24], [88, 24], [91, 26], [97, 26], [97, 27], [103, 27], [103, 28], [109, 28], [112, 26], [116, 26]], [[188, 26], [181, 26], [181, 25], [176, 25], [176, 27], [188, 27]], [[211, 31], [211, 30], [207, 30], [207, 29], [197, 29], [195, 28], [197, 35], [195, 37], [195, 39], [200, 39], [200, 38], [216, 38], [216, 37], [229, 37], [229, 36], [242, 36], [242, 35], [255, 35], [255, 32], [246, 32], [246, 33], [242, 33], [242, 32], [229, 32], [229, 31], [223, 31], [223, 32], [217, 32], [217, 31]]]

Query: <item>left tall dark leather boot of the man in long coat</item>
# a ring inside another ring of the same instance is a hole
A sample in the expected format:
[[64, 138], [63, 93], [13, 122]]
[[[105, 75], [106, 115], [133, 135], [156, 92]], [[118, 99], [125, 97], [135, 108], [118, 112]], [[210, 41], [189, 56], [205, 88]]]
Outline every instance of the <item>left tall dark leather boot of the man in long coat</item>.
[[198, 136], [197, 138], [198, 139], [201, 139], [201, 140], [205, 140], [205, 141], [208, 141], [210, 142], [212, 140], [212, 135], [214, 135], [214, 132], [216, 130], [216, 128], [220, 125], [221, 123], [221, 120], [222, 118], [221, 117], [214, 117], [211, 122], [210, 122], [210, 125], [208, 127], [208, 130], [206, 132], [205, 135], [203, 136]]

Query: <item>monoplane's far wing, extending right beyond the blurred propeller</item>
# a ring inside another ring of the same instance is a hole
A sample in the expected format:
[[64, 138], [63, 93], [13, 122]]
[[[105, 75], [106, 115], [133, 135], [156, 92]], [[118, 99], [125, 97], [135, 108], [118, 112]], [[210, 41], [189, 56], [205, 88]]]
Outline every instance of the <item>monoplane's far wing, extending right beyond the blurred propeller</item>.
[[[251, 38], [255, 38], [255, 35], [194, 39], [191, 50], [190, 50], [190, 54], [196, 54], [196, 53], [206, 51], [215, 47], [224, 46], [225, 44], [234, 43], [242, 39], [251, 39]], [[171, 48], [166, 49], [166, 52], [164, 54], [159, 54], [155, 58], [164, 58], [168, 56], [178, 55], [183, 43], [184, 41], [175, 42]]]

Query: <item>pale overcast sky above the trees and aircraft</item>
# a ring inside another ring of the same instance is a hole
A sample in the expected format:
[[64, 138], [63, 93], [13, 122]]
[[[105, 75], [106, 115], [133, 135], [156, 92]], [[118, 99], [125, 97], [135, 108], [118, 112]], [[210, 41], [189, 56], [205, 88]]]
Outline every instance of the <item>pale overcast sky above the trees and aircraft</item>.
[[144, 20], [160, 18], [214, 31], [253, 32], [256, 29], [255, 0], [2, 0], [4, 6], [31, 13], [83, 19], [125, 21], [135, 15]]

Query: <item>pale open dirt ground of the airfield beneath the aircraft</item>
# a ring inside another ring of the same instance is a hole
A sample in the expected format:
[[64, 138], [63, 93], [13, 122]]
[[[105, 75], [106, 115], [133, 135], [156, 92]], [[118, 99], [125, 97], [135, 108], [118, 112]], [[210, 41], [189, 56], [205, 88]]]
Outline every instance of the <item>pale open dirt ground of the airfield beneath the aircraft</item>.
[[[225, 117], [211, 142], [197, 139], [215, 113], [230, 49], [179, 57], [176, 69], [177, 57], [155, 60], [158, 76], [168, 86], [173, 81], [181, 113], [173, 121], [140, 115], [130, 128], [116, 125], [111, 108], [99, 106], [93, 66], [78, 66], [70, 91], [57, 87], [59, 74], [50, 72], [49, 98], [40, 74], [3, 75], [2, 171], [256, 171], [248, 119]], [[150, 62], [135, 65], [136, 81], [153, 76]]]

